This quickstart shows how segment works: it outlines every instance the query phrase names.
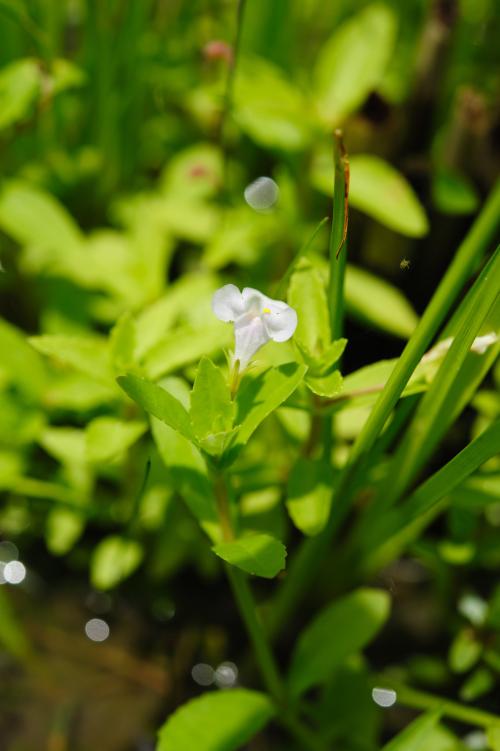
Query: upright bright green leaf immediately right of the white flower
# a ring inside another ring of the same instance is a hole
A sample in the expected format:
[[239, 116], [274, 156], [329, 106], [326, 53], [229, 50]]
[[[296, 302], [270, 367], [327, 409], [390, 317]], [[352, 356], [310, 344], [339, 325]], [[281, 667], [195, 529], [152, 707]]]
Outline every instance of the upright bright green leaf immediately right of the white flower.
[[292, 274], [288, 302], [297, 311], [297, 343], [319, 358], [331, 341], [330, 318], [323, 279], [307, 259], [301, 259]]

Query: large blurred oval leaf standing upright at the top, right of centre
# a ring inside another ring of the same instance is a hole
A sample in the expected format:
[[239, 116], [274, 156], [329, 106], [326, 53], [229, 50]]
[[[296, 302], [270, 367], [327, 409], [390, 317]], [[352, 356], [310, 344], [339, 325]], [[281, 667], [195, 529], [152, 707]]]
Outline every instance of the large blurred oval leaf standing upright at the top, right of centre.
[[322, 48], [314, 82], [317, 108], [329, 127], [377, 88], [392, 56], [395, 33], [392, 11], [373, 3], [344, 22]]

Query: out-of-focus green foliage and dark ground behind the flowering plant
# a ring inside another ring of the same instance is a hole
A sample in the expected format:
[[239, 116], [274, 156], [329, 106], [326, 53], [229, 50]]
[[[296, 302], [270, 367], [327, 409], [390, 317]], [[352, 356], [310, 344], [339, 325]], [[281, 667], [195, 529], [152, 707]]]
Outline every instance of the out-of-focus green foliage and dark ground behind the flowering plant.
[[[342, 127], [343, 371], [351, 388], [378, 383], [383, 364], [357, 371], [399, 355], [499, 173], [495, 0], [247, 0], [235, 49], [236, 22], [229, 0], [0, 0], [0, 556], [27, 569], [0, 589], [9, 751], [152, 748], [166, 709], [199, 691], [192, 665], [241, 654], [219, 563], [180, 500], [192, 510], [206, 490], [179, 480], [186, 457], [165, 436], [155, 447], [116, 376], [162, 379], [183, 399], [199, 358], [222, 359], [231, 332], [213, 291], [274, 293], [331, 211]], [[261, 175], [280, 189], [264, 212], [244, 200]], [[324, 227], [311, 250], [323, 271], [327, 247]], [[434, 467], [498, 417], [499, 380], [497, 365]], [[372, 403], [339, 412], [339, 463]], [[234, 471], [248, 527], [292, 548], [282, 501], [309, 419], [281, 409]], [[372, 655], [490, 709], [499, 470], [491, 460], [378, 574], [395, 614]], [[93, 617], [111, 626], [99, 648]], [[343, 748], [375, 749], [407, 715], [382, 729], [359, 698], [364, 665], [344, 672], [328, 691], [351, 690], [349, 711], [332, 712], [328, 692], [317, 711]], [[272, 732], [251, 748], [278, 748]], [[445, 731], [435, 743], [463, 748]]]

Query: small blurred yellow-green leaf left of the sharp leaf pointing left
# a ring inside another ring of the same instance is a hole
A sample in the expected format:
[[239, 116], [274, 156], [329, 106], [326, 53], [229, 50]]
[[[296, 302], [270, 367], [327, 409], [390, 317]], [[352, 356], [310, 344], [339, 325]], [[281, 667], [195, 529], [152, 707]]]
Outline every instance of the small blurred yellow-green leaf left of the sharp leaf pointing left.
[[139, 421], [96, 417], [86, 428], [87, 458], [90, 462], [110, 462], [123, 454], [146, 431]]

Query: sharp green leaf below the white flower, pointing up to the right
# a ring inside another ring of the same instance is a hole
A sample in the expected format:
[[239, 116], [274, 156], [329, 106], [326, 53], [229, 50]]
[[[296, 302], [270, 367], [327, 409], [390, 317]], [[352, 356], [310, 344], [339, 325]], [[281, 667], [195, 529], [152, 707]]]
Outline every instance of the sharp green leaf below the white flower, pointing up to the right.
[[237, 445], [244, 445], [260, 423], [295, 391], [307, 368], [285, 363], [248, 379], [236, 397], [236, 423], [240, 424]]

